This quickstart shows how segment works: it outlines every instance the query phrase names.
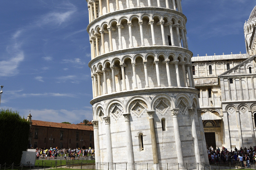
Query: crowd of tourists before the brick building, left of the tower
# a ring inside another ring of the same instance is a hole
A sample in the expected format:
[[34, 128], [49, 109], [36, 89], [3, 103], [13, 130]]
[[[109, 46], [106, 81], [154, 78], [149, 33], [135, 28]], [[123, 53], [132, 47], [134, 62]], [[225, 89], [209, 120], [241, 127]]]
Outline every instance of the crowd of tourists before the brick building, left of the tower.
[[37, 148], [36, 149], [36, 159], [56, 159], [57, 157], [64, 157], [64, 160], [75, 160], [81, 157], [94, 156], [94, 149], [58, 149], [56, 148]]

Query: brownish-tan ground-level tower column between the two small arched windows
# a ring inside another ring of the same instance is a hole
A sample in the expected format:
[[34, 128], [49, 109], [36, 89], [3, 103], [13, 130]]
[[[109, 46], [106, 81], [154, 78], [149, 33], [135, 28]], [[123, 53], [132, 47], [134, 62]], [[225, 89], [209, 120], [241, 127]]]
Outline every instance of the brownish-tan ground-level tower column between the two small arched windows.
[[150, 134], [151, 134], [151, 143], [152, 143], [152, 154], [153, 162], [158, 162], [158, 153], [157, 153], [157, 143], [156, 143], [156, 132], [155, 132], [155, 123], [154, 123], [154, 110], [148, 110], [149, 125], [150, 125]]

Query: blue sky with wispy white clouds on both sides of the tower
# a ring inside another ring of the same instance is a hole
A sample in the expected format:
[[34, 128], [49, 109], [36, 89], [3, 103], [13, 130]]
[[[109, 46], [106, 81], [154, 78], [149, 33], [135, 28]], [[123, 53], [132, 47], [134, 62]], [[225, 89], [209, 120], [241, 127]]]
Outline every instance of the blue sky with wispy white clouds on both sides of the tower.
[[[182, 0], [189, 49], [245, 53], [252, 0]], [[90, 43], [85, 0], [0, 2], [1, 108], [51, 122], [92, 120]]]

